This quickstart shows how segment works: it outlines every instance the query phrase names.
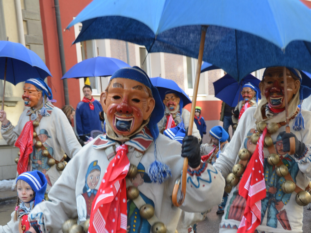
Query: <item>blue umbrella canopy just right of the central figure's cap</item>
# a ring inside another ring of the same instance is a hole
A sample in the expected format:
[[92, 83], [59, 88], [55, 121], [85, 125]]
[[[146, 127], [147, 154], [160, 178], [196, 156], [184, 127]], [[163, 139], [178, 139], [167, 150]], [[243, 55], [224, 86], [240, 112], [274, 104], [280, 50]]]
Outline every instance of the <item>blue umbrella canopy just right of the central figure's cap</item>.
[[191, 103], [191, 100], [186, 92], [184, 92], [183, 89], [181, 89], [173, 80], [161, 77], [150, 78], [150, 80], [152, 85], [158, 88], [162, 100], [164, 100], [166, 91], [176, 91], [179, 95], [179, 98], [181, 98], [181, 108]]

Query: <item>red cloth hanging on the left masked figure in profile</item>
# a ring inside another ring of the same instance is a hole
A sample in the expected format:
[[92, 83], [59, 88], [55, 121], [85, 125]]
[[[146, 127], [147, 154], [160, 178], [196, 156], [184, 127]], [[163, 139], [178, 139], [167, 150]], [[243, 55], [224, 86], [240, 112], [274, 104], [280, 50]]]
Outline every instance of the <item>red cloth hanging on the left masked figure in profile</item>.
[[32, 121], [28, 121], [14, 144], [14, 146], [20, 148], [21, 152], [17, 163], [18, 174], [22, 174], [27, 171], [29, 155], [33, 151], [33, 133], [34, 126], [32, 125]]

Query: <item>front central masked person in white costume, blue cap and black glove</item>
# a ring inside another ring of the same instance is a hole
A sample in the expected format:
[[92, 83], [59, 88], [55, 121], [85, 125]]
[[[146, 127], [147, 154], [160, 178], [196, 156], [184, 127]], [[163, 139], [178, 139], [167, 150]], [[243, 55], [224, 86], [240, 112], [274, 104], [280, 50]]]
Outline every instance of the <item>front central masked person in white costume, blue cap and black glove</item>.
[[[204, 212], [220, 203], [221, 195], [217, 194], [223, 191], [225, 180], [211, 164], [201, 164], [196, 138], [198, 153], [189, 152], [188, 164], [197, 170], [189, 168], [185, 201], [180, 208], [173, 206], [173, 187], [183, 168], [182, 145], [159, 134], [157, 123], [164, 114], [163, 103], [144, 71], [138, 67], [116, 71], [101, 94], [101, 104], [107, 133], [79, 151], [49, 192], [51, 202], [32, 211], [29, 220], [40, 232], [58, 232], [68, 218], [79, 216], [79, 222], [83, 222], [81, 216], [87, 214], [78, 215], [78, 203], [80, 195], [85, 195], [86, 176], [93, 161], [100, 167], [100, 182], [95, 186], [90, 232], [104, 225], [109, 232], [120, 229], [124, 233], [150, 233], [155, 224], [175, 232], [181, 209]], [[183, 149], [183, 156], [187, 153]], [[113, 196], [106, 199], [111, 192]], [[92, 221], [97, 213], [106, 225]], [[135, 215], [144, 220], [135, 224]]]

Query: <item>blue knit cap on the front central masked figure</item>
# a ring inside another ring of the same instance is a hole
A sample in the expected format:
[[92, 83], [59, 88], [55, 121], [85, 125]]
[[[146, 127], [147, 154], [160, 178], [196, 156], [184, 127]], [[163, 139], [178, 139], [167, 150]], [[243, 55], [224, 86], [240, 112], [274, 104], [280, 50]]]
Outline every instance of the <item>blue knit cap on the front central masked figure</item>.
[[126, 67], [117, 70], [114, 72], [114, 74], [111, 76], [110, 80], [114, 78], [127, 78], [130, 80], [134, 80], [137, 82], [142, 83], [146, 87], [148, 87], [151, 90], [152, 96], [155, 100], [155, 107], [151, 113], [148, 127], [152, 134], [152, 137], [156, 139], [159, 135], [159, 128], [157, 123], [163, 118], [164, 116], [164, 108], [162, 104], [162, 100], [160, 98], [160, 94], [158, 89], [152, 85], [148, 75], [143, 71], [141, 68], [137, 66], [133, 67]]

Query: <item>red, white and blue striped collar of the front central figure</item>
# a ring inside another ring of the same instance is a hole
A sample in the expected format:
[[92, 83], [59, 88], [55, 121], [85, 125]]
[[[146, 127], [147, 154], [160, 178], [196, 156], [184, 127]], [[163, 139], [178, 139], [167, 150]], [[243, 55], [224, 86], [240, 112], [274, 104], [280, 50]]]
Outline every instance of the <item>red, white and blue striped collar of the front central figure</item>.
[[[150, 133], [150, 130], [147, 126], [145, 126], [142, 131], [137, 133], [134, 137], [130, 140], [124, 142], [125, 145], [132, 146], [139, 151], [146, 151], [153, 141], [153, 137]], [[115, 140], [106, 137], [106, 134], [100, 135], [95, 142], [93, 143], [92, 147], [94, 149], [103, 149], [109, 146], [117, 145], [119, 143]]]

